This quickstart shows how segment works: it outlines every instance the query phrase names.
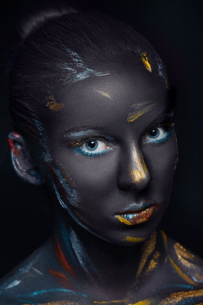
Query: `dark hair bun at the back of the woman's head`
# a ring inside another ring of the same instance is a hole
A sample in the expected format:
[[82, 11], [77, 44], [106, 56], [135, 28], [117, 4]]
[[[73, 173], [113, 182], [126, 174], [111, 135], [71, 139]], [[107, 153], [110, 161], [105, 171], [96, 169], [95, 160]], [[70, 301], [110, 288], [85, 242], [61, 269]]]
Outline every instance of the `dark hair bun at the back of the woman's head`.
[[38, 10], [35, 7], [35, 12], [28, 12], [26, 17], [21, 18], [18, 24], [19, 35], [22, 39], [27, 38], [47, 20], [56, 19], [69, 13], [77, 13], [77, 10], [70, 6], [50, 7], [50, 5], [46, 5]]

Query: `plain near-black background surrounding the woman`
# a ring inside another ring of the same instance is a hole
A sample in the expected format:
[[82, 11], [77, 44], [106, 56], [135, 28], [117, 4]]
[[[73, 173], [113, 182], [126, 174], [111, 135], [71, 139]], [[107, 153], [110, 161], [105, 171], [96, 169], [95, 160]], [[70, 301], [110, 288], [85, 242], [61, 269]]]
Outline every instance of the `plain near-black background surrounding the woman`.
[[[179, 162], [171, 202], [160, 227], [203, 258], [203, 4], [198, 0], [63, 2], [99, 10], [131, 24], [165, 61], [176, 92]], [[51, 227], [46, 193], [17, 177], [7, 146], [7, 134], [12, 131], [7, 72], [19, 43], [16, 24], [19, 14], [32, 11], [38, 3], [4, 0], [1, 4], [0, 276], [36, 249]]]

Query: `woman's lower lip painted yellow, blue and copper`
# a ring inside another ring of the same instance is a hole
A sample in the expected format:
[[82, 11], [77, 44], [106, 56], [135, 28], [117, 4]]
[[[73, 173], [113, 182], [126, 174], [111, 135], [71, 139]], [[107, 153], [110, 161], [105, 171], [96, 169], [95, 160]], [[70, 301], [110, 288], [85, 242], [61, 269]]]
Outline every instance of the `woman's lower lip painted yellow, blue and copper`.
[[120, 213], [115, 215], [115, 217], [117, 217], [118, 220], [125, 225], [134, 226], [148, 221], [156, 209], [157, 206], [152, 205], [142, 210]]

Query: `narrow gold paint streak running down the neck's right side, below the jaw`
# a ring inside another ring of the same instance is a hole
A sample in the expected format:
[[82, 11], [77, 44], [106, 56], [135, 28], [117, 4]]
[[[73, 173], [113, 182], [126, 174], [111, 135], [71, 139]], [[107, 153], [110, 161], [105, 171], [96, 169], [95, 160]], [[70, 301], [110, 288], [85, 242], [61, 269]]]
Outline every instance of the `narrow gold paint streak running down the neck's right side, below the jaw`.
[[137, 270], [137, 274], [136, 274], [136, 279], [138, 278], [138, 276], [141, 274], [142, 270], [144, 269], [149, 255], [155, 249], [155, 246], [156, 246], [156, 236], [157, 236], [157, 233], [155, 231], [153, 233], [153, 235], [151, 235], [151, 237], [145, 243], [144, 253], [143, 253], [142, 258], [140, 260], [140, 264], [139, 264], [139, 267], [138, 267], [138, 270]]

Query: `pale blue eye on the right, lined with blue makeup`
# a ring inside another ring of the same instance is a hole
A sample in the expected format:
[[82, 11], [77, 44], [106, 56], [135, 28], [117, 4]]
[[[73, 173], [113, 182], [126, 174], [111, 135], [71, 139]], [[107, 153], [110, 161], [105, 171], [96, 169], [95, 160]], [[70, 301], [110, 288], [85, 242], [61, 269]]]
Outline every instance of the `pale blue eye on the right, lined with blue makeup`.
[[172, 129], [167, 130], [165, 127], [152, 128], [144, 135], [143, 141], [147, 143], [163, 143], [166, 142], [172, 133]]

